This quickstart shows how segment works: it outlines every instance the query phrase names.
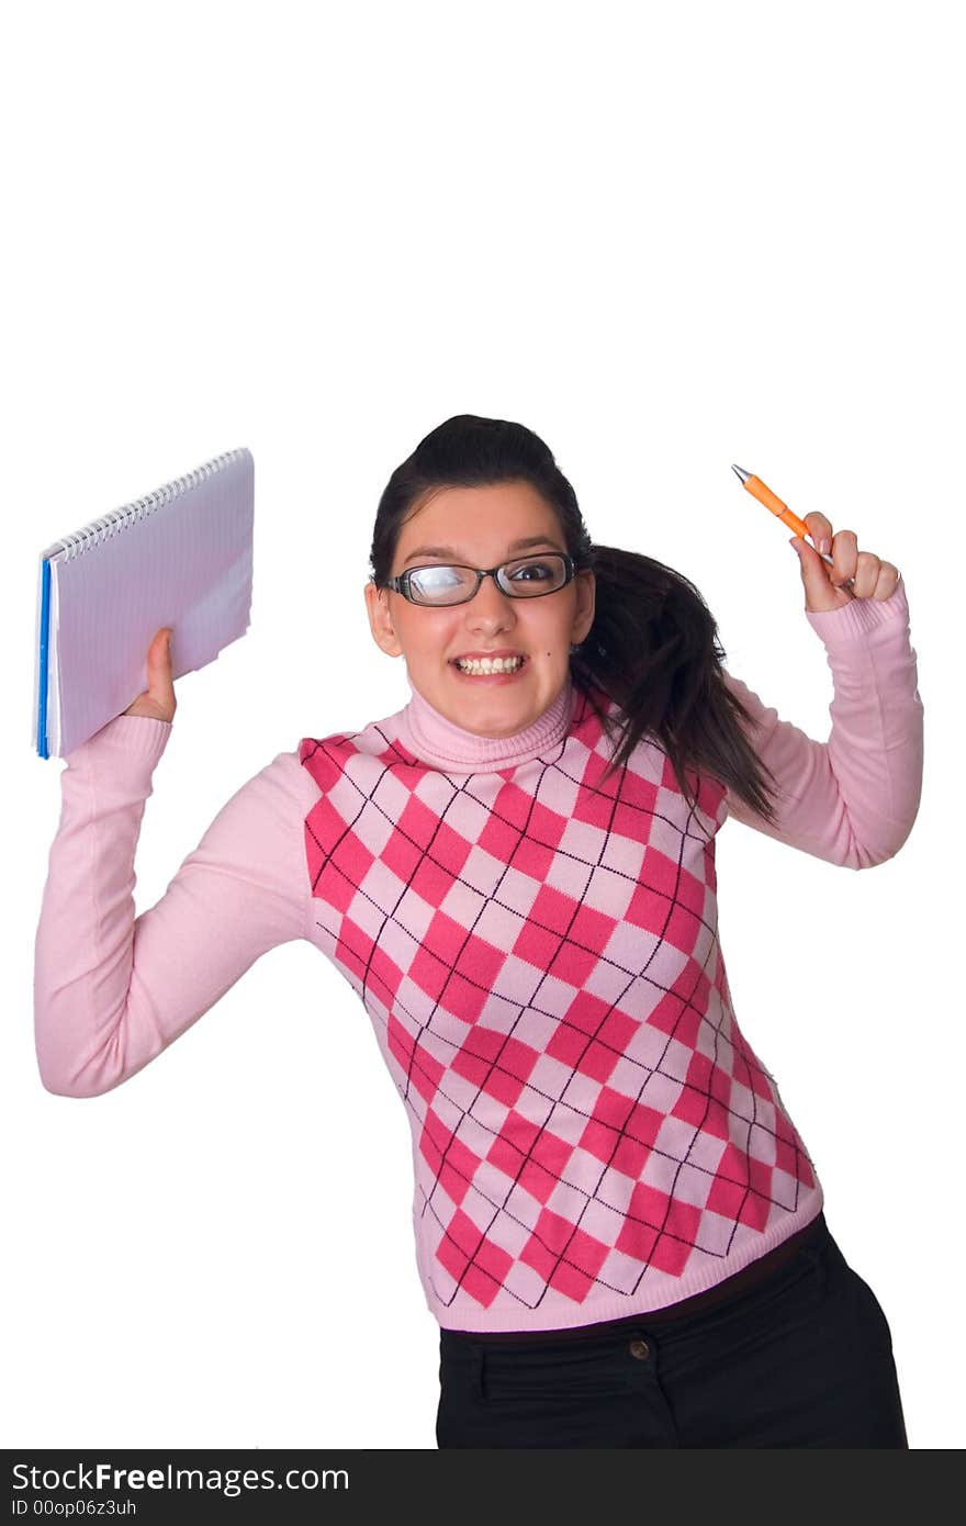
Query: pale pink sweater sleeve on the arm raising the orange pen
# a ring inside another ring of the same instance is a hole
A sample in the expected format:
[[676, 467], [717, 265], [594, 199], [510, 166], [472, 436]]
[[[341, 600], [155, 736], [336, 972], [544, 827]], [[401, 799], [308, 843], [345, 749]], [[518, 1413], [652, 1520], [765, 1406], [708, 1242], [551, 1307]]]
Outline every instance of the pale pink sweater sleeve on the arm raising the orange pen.
[[832, 668], [832, 732], [827, 742], [812, 740], [725, 671], [754, 717], [749, 740], [780, 789], [777, 830], [731, 790], [728, 815], [830, 864], [871, 868], [899, 852], [922, 794], [923, 705], [905, 584], [900, 578], [887, 600], [856, 598], [806, 617]]

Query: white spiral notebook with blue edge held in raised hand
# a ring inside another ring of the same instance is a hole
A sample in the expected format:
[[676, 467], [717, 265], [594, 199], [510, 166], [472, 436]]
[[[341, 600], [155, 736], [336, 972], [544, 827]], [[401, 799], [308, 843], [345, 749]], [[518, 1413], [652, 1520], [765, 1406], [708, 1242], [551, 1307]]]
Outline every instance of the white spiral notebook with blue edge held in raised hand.
[[229, 450], [40, 555], [32, 742], [66, 757], [148, 687], [172, 627], [172, 674], [212, 662], [252, 612], [255, 462]]

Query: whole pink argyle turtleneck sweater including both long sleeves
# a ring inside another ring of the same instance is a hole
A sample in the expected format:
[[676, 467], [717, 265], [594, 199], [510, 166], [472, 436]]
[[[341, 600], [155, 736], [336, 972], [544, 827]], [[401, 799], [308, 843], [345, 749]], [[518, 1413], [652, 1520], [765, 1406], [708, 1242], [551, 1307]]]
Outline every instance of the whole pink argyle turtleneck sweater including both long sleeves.
[[749, 1265], [823, 1189], [731, 1007], [716, 833], [731, 815], [870, 868], [905, 842], [922, 784], [903, 584], [806, 618], [832, 668], [827, 742], [726, 674], [781, 786], [777, 830], [707, 777], [688, 810], [650, 740], [603, 783], [610, 749], [569, 679], [504, 739], [411, 685], [395, 714], [273, 758], [134, 917], [172, 728], [116, 717], [61, 774], [35, 946], [44, 1087], [110, 1091], [259, 954], [307, 938], [363, 1001], [406, 1108], [417, 1264], [443, 1326], [589, 1325]]

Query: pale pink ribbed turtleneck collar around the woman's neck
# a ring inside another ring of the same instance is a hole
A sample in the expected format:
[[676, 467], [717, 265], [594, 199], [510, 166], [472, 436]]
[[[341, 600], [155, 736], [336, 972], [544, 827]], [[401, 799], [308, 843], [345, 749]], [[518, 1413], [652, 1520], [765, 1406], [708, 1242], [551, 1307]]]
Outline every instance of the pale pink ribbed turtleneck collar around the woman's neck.
[[563, 688], [542, 716], [508, 737], [484, 737], [441, 714], [412, 679], [409, 688], [412, 697], [401, 711], [403, 742], [420, 761], [446, 774], [496, 772], [540, 757], [568, 734], [575, 699], [568, 671]]

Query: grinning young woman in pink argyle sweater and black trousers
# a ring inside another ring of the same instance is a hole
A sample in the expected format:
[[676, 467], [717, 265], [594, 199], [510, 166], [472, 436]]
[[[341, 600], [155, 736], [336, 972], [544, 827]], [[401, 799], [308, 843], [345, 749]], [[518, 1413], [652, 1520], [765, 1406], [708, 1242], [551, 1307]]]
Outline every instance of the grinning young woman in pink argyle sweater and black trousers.
[[717, 940], [729, 815], [871, 868], [919, 806], [899, 572], [806, 522], [835, 563], [798, 543], [827, 743], [726, 673], [687, 578], [591, 542], [536, 435], [461, 415], [375, 517], [365, 597], [406, 659], [401, 710], [279, 754], [137, 919], [169, 630], [148, 690], [66, 760], [37, 934], [44, 1085], [108, 1091], [259, 954], [322, 949], [412, 1126], [440, 1447], [908, 1445], [888, 1323]]

